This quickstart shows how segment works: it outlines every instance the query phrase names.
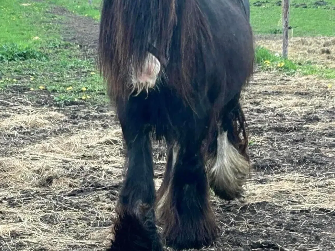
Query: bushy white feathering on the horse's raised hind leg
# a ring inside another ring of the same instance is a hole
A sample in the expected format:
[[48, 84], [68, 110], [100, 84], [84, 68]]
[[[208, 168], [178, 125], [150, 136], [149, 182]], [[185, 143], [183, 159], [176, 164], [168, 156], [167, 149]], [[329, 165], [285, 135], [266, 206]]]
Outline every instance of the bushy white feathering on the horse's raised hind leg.
[[216, 158], [209, 161], [208, 179], [215, 194], [223, 199], [238, 197], [249, 174], [250, 164], [229, 142], [227, 132], [217, 137]]

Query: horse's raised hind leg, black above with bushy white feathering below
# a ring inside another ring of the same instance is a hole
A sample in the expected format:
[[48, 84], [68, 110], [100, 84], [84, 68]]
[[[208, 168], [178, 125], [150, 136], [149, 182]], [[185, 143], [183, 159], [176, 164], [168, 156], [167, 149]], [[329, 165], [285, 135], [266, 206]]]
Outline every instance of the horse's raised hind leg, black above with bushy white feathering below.
[[208, 164], [208, 180], [215, 195], [225, 200], [241, 196], [250, 171], [246, 152], [248, 137], [245, 116], [239, 96], [232, 99], [221, 113], [221, 124], [212, 142]]

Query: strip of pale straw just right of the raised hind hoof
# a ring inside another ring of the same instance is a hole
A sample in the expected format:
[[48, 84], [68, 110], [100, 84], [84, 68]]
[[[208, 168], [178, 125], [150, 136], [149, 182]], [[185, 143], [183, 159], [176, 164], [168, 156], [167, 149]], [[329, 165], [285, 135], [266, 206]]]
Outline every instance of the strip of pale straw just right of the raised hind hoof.
[[[334, 172], [335, 173], [335, 172]], [[301, 173], [262, 176], [247, 183], [246, 200], [268, 201], [282, 210], [319, 210], [335, 212], [335, 178], [310, 177]]]

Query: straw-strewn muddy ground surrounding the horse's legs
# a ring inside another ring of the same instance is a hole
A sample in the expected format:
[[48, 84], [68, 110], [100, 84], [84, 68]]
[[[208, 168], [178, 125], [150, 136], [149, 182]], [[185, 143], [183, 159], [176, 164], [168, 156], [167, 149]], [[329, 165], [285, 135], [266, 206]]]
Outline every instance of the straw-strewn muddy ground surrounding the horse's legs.
[[[68, 17], [64, 37], [93, 56], [98, 25], [55, 13]], [[211, 197], [221, 235], [204, 250], [335, 250], [334, 87], [255, 72], [242, 101], [252, 173], [241, 199]], [[115, 112], [61, 108], [39, 93], [14, 86], [0, 98], [0, 250], [105, 250], [125, 157]], [[154, 146], [157, 186], [163, 150]]]

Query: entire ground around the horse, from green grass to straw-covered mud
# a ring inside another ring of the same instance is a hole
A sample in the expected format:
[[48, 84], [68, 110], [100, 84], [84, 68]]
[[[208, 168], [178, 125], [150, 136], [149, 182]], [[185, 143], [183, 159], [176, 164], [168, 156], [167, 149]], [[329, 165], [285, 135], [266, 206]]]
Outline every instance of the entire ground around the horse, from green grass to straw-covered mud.
[[[109, 244], [125, 145], [95, 67], [101, 1], [87, 2], [0, 2], [1, 251]], [[221, 235], [203, 250], [335, 251], [334, 5], [291, 1], [283, 60], [280, 7], [251, 2], [251, 176], [242, 198], [211, 196]], [[158, 187], [164, 143], [153, 152]]]

